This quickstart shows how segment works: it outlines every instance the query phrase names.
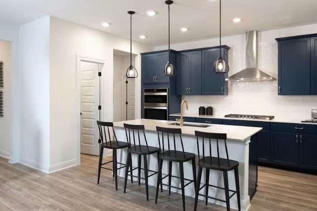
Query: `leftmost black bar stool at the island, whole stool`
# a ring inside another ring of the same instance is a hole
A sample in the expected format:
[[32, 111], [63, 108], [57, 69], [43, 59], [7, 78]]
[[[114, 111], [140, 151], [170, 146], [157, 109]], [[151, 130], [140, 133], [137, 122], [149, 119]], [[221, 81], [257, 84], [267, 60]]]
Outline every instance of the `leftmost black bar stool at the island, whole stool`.
[[[122, 141], [117, 140], [117, 137], [115, 136], [115, 132], [113, 129], [112, 122], [102, 122], [102, 121], [97, 120], [97, 125], [99, 128], [99, 134], [100, 134], [100, 139], [99, 139], [100, 155], [99, 155], [99, 167], [98, 167], [98, 181], [97, 181], [97, 183], [99, 184], [101, 169], [104, 168], [104, 169], [112, 171], [113, 177], [115, 178], [115, 190], [118, 190], [117, 170], [120, 168], [124, 168], [126, 164], [121, 163], [121, 162], [117, 162], [117, 150], [123, 149], [123, 148], [128, 148], [129, 144], [127, 142], [122, 142]], [[113, 137], [114, 140], [112, 140], [111, 137]], [[103, 163], [104, 148], [112, 150], [112, 160], [107, 161], [105, 163]], [[107, 167], [103, 167], [103, 165], [110, 163], [110, 162], [112, 162], [112, 169], [107, 168]], [[118, 168], [117, 164], [120, 164], [121, 167]], [[132, 167], [132, 165], [130, 166], [130, 168], [131, 167]], [[132, 176], [131, 176], [131, 182], [132, 182]]]

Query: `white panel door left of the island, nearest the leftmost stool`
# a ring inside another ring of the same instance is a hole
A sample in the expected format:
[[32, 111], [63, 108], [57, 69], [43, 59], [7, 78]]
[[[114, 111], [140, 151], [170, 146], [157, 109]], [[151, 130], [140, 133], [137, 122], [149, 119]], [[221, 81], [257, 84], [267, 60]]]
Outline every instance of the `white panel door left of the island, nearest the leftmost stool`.
[[81, 127], [80, 152], [99, 155], [99, 130], [97, 120], [100, 117], [100, 64], [80, 62], [81, 69]]

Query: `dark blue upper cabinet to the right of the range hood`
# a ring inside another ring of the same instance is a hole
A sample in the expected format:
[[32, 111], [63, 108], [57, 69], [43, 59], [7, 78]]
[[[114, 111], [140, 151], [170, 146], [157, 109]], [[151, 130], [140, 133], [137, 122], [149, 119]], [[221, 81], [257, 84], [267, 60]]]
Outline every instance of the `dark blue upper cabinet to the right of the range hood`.
[[278, 95], [317, 95], [317, 37], [312, 36], [276, 39]]

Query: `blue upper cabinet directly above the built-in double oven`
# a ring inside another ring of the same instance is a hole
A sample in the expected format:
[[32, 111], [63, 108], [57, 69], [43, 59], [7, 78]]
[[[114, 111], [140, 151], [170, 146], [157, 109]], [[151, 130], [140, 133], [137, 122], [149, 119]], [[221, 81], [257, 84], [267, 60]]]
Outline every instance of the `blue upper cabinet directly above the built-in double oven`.
[[[164, 76], [167, 61], [168, 51], [141, 53], [142, 83], [169, 83], [170, 77]], [[176, 65], [175, 52], [172, 50], [170, 62]]]

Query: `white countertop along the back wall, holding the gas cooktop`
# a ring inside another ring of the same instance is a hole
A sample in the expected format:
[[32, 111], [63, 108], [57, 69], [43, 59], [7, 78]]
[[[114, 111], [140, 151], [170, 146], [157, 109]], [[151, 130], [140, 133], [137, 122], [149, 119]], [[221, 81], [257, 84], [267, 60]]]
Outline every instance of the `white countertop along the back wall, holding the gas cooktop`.
[[[180, 113], [170, 114], [170, 116], [180, 116]], [[211, 118], [211, 119], [234, 119], [234, 120], [247, 120], [247, 121], [260, 121], [260, 122], [280, 122], [280, 123], [295, 123], [295, 124], [315, 124], [314, 122], [301, 122], [305, 119], [279, 119], [274, 118], [272, 120], [268, 119], [249, 119], [249, 118], [228, 118], [224, 116], [217, 115], [199, 115], [199, 114], [185, 114], [184, 117], [198, 117], [198, 118]]]

